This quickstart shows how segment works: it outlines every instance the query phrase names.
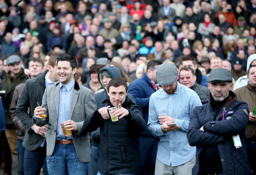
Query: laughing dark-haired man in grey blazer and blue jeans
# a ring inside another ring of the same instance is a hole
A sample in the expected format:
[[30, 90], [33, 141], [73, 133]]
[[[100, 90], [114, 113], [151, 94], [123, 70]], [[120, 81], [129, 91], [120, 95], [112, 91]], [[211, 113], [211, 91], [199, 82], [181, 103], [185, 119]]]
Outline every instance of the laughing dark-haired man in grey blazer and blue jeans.
[[[49, 175], [87, 175], [90, 161], [88, 133], [82, 131], [83, 121], [96, 110], [93, 91], [74, 80], [76, 59], [67, 53], [57, 57], [59, 84], [46, 88], [42, 107], [35, 108], [33, 122], [47, 129], [46, 161]], [[40, 115], [46, 114], [46, 120]], [[61, 122], [72, 135], [64, 136]], [[67, 172], [66, 172], [67, 167]]]

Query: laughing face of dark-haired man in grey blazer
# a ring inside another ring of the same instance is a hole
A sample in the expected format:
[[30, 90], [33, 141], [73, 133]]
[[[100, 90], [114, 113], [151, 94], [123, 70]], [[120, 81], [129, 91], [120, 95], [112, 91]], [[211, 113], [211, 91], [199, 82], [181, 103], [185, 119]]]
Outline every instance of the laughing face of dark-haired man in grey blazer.
[[72, 69], [69, 61], [59, 61], [57, 63], [57, 75], [59, 81], [63, 85], [67, 85], [74, 80], [74, 74], [76, 73], [76, 67]]

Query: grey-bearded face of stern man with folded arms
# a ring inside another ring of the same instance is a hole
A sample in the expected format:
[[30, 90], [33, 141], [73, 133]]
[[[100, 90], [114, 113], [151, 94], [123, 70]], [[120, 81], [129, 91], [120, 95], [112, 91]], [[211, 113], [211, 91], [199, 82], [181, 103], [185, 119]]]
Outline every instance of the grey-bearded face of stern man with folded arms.
[[229, 91], [233, 87], [233, 83], [230, 82], [212, 82], [208, 84], [210, 93], [215, 101], [223, 101], [228, 97]]

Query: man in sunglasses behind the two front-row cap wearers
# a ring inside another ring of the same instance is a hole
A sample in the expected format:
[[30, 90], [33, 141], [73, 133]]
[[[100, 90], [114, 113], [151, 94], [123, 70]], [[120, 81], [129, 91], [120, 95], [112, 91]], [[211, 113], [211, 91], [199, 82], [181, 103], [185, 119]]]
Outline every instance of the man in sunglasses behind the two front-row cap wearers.
[[182, 67], [180, 70], [180, 84], [192, 89], [199, 96], [202, 104], [207, 103], [210, 98], [210, 89], [196, 82], [195, 71], [191, 67]]

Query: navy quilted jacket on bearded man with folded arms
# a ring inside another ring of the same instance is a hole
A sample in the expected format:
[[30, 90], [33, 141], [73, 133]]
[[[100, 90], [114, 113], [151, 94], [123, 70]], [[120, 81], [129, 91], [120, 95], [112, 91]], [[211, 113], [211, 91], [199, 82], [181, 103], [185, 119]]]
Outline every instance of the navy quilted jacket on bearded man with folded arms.
[[[218, 145], [223, 175], [249, 175], [249, 162], [245, 145], [245, 127], [249, 120], [249, 108], [243, 101], [237, 101], [236, 95], [230, 91], [233, 98], [231, 104], [224, 104], [226, 110], [224, 120], [222, 112], [213, 121], [214, 110], [210, 101], [194, 108], [190, 117], [187, 138], [191, 146], [196, 146], [196, 163], [192, 175], [200, 174], [202, 148], [206, 145]], [[204, 126], [204, 131], [200, 128]], [[236, 149], [232, 140], [233, 135], [239, 134], [242, 147]]]

